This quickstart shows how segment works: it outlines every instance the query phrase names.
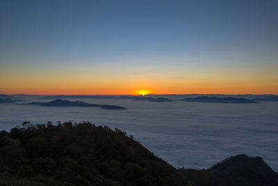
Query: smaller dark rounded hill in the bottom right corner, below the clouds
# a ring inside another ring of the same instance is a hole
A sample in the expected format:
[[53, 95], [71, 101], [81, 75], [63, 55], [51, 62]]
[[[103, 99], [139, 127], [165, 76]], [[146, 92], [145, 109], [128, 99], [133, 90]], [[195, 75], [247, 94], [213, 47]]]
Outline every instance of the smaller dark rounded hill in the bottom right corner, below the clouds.
[[259, 186], [278, 185], [278, 174], [261, 157], [236, 155], [210, 169], [179, 169], [197, 186]]

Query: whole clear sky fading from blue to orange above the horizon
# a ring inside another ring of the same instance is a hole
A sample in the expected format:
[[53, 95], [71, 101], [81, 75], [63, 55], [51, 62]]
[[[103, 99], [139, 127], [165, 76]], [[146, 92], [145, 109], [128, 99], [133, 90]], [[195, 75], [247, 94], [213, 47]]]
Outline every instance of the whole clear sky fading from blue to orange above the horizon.
[[0, 93], [278, 94], [278, 1], [0, 1]]

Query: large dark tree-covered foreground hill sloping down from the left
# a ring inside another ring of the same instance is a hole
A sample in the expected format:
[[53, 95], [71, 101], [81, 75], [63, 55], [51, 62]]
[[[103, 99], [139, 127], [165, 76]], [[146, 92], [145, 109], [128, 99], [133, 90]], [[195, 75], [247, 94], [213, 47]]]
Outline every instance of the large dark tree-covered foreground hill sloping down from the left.
[[193, 185], [125, 132], [88, 122], [2, 131], [0, 164], [2, 185]]

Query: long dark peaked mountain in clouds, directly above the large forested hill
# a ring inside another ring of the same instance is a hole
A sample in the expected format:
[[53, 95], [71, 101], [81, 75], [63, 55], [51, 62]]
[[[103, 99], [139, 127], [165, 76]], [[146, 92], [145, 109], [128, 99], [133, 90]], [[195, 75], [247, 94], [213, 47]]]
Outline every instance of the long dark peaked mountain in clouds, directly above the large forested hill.
[[30, 102], [27, 104], [34, 104], [43, 107], [101, 107], [101, 109], [126, 109], [124, 107], [109, 105], [109, 104], [90, 104], [87, 102], [80, 101], [69, 101], [69, 100], [54, 100], [51, 102]]

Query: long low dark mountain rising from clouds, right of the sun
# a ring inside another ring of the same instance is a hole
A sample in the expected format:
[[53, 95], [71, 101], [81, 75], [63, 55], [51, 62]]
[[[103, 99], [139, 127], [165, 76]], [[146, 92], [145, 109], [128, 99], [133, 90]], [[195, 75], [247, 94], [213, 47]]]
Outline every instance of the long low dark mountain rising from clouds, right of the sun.
[[257, 103], [255, 100], [247, 100], [245, 98], [218, 98], [201, 96], [197, 98], [183, 98], [185, 102], [218, 102], [218, 103]]

